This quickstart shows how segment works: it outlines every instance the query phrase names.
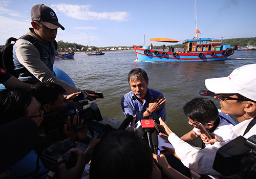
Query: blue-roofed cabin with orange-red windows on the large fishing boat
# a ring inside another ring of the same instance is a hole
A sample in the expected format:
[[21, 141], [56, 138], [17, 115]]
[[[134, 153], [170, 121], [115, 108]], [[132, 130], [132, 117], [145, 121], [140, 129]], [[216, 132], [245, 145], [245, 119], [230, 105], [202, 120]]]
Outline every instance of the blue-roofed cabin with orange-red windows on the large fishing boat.
[[222, 50], [222, 40], [214, 38], [200, 38], [184, 40], [184, 52], [206, 52]]

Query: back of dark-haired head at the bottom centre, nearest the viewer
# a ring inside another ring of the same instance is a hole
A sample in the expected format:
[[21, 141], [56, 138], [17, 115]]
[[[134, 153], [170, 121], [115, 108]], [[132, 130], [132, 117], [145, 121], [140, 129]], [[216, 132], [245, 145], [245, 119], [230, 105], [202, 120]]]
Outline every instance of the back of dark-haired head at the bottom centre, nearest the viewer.
[[95, 147], [90, 178], [150, 178], [152, 151], [135, 132], [117, 130]]

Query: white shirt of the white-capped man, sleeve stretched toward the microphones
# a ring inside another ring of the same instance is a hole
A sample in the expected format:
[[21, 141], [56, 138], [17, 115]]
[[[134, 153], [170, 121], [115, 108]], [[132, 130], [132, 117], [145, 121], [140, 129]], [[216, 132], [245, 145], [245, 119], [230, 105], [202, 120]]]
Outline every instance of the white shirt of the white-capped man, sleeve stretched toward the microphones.
[[[245, 120], [232, 129], [236, 135], [243, 135], [247, 125], [252, 120]], [[256, 125], [254, 125], [244, 136], [246, 139], [256, 134]], [[220, 177], [220, 173], [212, 169], [217, 150], [228, 142], [216, 142], [214, 145], [207, 145], [204, 149], [198, 150], [188, 143], [181, 140], [175, 133], [168, 136], [168, 141], [174, 146], [176, 154], [181, 162], [191, 170], [200, 174]]]

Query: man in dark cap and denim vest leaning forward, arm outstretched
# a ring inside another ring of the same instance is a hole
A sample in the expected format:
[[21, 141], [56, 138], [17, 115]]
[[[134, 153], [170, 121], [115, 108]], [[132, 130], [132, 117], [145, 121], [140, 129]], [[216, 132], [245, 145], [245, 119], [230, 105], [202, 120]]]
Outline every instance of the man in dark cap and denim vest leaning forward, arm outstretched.
[[38, 4], [31, 9], [31, 19], [33, 28], [29, 28], [27, 34], [36, 40], [37, 45], [25, 39], [18, 39], [13, 46], [13, 61], [15, 72], [19, 74], [18, 79], [30, 84], [51, 81], [65, 88], [67, 94], [78, 92], [78, 88], [58, 79], [53, 71], [57, 29], [65, 30], [59, 24], [56, 13], [50, 7]]

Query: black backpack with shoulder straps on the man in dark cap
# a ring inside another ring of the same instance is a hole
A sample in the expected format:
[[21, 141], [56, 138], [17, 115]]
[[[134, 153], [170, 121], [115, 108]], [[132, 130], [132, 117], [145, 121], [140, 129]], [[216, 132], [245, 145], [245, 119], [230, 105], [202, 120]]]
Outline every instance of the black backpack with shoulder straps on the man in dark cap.
[[[31, 42], [39, 51], [40, 53], [40, 58], [42, 58], [42, 49], [41, 47], [38, 45], [36, 39], [34, 37], [32, 37], [31, 35], [23, 35], [22, 37], [20, 37], [19, 39], [25, 39], [28, 40], [29, 42]], [[18, 74], [16, 74], [16, 72], [14, 71], [15, 66], [13, 63], [13, 45], [16, 42], [16, 38], [14, 37], [10, 37], [6, 40], [5, 46], [0, 48], [0, 67], [5, 69], [8, 73], [10, 73], [11, 75], [13, 75], [14, 77], [18, 78]], [[12, 43], [12, 41], [14, 43]], [[53, 41], [53, 44], [55, 46], [55, 49], [57, 50], [58, 48], [58, 44], [56, 42], [56, 40]]]

